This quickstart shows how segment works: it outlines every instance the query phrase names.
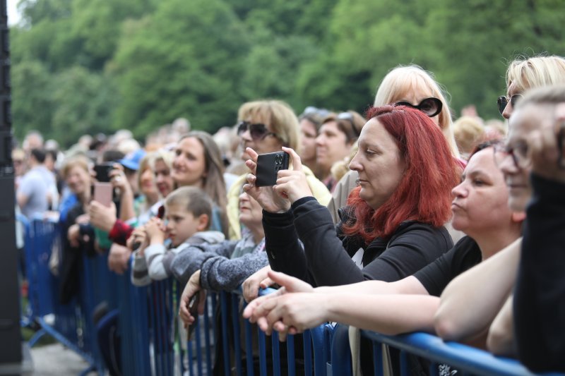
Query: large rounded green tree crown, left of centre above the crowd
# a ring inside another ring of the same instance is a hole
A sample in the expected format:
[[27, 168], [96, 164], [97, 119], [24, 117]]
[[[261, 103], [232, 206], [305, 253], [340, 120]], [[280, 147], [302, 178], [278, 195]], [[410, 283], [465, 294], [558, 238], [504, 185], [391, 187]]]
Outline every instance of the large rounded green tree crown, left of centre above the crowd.
[[231, 125], [248, 50], [246, 30], [223, 1], [161, 2], [153, 16], [129, 23], [119, 43], [114, 124], [136, 135], [179, 116], [208, 131]]

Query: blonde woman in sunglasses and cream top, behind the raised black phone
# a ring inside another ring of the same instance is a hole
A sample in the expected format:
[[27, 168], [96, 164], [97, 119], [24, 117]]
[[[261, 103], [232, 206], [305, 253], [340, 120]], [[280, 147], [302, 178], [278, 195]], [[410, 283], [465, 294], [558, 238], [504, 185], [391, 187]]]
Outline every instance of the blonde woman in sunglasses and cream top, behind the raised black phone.
[[[250, 158], [246, 152], [247, 147], [255, 150], [257, 154], [280, 152], [283, 146], [299, 150], [298, 119], [285, 102], [279, 100], [246, 102], [239, 107], [237, 121], [237, 134], [241, 138], [242, 160], [244, 161]], [[306, 166], [303, 171], [314, 197], [323, 205], [327, 205], [331, 197], [328, 189]], [[240, 176], [227, 193], [227, 217], [230, 222], [231, 239], [241, 238], [238, 208], [239, 188], [245, 179], [246, 174]]]

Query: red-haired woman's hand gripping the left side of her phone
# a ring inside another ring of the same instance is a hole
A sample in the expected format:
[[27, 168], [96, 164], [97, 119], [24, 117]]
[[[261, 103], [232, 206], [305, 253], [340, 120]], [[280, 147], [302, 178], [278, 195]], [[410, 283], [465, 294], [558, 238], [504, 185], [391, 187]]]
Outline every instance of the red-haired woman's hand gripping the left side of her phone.
[[273, 187], [256, 187], [255, 181], [257, 180], [256, 169], [257, 169], [257, 156], [258, 154], [251, 147], [246, 148], [247, 154], [251, 159], [245, 161], [245, 165], [251, 171], [251, 174], [247, 174], [247, 183], [243, 186], [244, 191], [254, 198], [263, 210], [271, 213], [283, 213], [290, 209], [290, 202], [287, 198], [277, 195], [273, 190]]

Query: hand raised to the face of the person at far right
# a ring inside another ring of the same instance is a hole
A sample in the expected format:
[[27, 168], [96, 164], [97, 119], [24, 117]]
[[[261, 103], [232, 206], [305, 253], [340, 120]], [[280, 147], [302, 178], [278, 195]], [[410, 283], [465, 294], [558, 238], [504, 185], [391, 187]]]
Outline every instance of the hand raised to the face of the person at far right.
[[528, 150], [535, 174], [565, 183], [565, 103], [557, 106], [555, 115], [554, 123], [528, 135]]

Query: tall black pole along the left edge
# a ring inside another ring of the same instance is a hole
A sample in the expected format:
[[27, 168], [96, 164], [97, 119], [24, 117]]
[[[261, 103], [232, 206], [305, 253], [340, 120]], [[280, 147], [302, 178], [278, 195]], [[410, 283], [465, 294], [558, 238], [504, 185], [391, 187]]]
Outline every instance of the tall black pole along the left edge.
[[8, 12], [0, 0], [0, 365], [22, 362], [10, 104]]

